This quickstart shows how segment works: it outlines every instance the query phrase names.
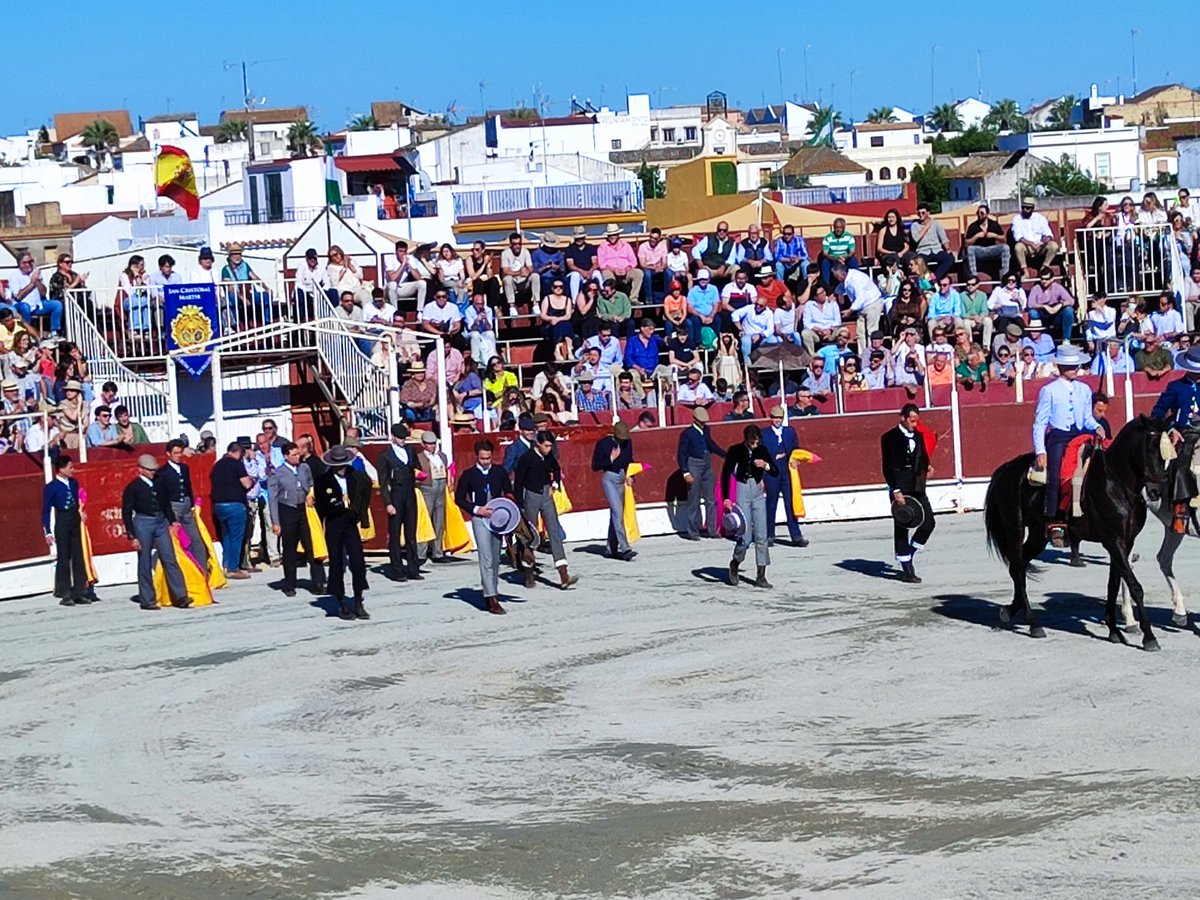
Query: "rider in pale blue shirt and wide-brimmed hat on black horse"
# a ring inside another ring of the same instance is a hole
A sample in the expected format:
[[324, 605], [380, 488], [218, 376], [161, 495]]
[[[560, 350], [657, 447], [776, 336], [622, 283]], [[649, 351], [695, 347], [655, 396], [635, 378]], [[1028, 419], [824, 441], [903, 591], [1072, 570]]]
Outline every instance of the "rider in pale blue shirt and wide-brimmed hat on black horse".
[[1067, 444], [1075, 437], [1094, 432], [1104, 439], [1104, 430], [1092, 414], [1092, 389], [1076, 382], [1081, 366], [1090, 356], [1076, 347], [1064, 344], [1054, 356], [1058, 377], [1038, 391], [1038, 406], [1033, 413], [1033, 452], [1036, 468], [1046, 473], [1043, 512], [1050, 542], [1066, 546], [1067, 523], [1058, 511], [1058, 473]]

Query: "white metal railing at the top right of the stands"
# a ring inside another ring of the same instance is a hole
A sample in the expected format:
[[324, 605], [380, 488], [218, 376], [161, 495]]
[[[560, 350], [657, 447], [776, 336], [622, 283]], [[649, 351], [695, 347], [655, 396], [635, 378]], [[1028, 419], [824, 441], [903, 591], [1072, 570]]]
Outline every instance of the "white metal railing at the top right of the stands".
[[1088, 294], [1157, 294], [1171, 290], [1172, 280], [1187, 278], [1189, 270], [1187, 254], [1165, 224], [1079, 228], [1075, 247]]

